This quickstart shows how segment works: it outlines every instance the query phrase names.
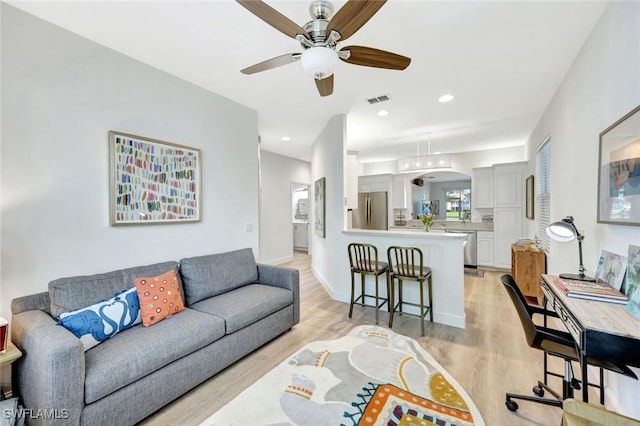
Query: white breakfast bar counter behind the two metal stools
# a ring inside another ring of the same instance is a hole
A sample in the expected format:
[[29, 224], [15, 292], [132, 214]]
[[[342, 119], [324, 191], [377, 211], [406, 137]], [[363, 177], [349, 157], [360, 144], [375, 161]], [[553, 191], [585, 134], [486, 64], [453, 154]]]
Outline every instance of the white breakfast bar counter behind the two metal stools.
[[[349, 229], [343, 231], [343, 234], [347, 243], [359, 242], [376, 246], [378, 260], [382, 262], [387, 261], [387, 248], [390, 246], [420, 248], [424, 254], [424, 264], [431, 268], [433, 276], [434, 322], [464, 328], [464, 235], [424, 230], [367, 229]], [[409, 284], [405, 285], [404, 299], [418, 300], [418, 286]], [[367, 285], [371, 283], [367, 282]]]

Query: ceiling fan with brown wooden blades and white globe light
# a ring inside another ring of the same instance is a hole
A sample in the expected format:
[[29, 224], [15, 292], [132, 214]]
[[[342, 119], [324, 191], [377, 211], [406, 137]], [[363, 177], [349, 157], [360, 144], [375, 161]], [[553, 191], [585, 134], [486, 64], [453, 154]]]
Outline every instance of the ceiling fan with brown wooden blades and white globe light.
[[236, 0], [251, 13], [283, 34], [296, 39], [302, 53], [287, 53], [259, 62], [241, 70], [255, 74], [300, 60], [302, 67], [316, 82], [320, 96], [333, 93], [333, 68], [338, 58], [354, 65], [404, 70], [411, 58], [364, 46], [347, 46], [337, 50], [337, 44], [351, 37], [386, 3], [387, 0], [348, 0], [333, 14], [333, 6], [317, 0], [309, 6], [313, 20], [300, 27], [295, 22], [261, 0]]

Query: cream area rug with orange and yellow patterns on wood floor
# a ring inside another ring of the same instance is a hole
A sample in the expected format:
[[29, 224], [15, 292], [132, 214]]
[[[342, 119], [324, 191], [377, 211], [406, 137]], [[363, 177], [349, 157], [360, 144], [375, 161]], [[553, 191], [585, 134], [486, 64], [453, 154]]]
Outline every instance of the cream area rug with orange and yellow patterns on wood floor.
[[462, 387], [415, 340], [376, 326], [308, 344], [202, 423], [484, 425]]

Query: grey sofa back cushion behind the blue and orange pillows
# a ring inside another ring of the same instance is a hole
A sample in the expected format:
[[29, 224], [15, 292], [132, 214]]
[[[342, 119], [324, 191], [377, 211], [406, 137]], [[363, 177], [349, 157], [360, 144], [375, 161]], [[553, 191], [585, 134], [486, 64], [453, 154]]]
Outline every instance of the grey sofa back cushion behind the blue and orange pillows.
[[103, 274], [59, 278], [49, 283], [51, 315], [57, 318], [63, 312], [86, 308], [130, 289], [137, 277], [151, 277], [177, 268], [178, 263], [171, 261]]

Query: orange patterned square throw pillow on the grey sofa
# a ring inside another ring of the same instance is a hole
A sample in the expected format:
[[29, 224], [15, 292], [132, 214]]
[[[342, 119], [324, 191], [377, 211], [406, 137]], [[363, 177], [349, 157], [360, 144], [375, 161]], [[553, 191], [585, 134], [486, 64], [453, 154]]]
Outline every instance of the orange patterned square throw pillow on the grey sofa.
[[136, 278], [142, 325], [149, 327], [173, 314], [184, 311], [176, 271], [157, 277]]

